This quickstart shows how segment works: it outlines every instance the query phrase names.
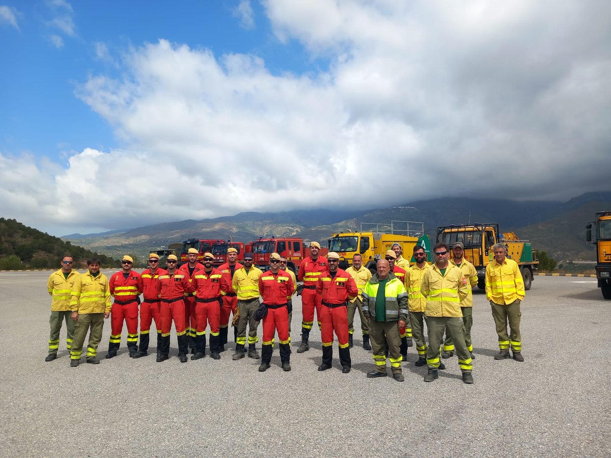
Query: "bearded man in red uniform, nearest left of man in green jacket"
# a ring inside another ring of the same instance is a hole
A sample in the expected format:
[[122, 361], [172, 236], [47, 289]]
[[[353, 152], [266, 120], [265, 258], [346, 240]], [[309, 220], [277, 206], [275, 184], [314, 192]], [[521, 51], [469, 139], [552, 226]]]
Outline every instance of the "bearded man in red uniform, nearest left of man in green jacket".
[[340, 255], [331, 252], [327, 255], [327, 260], [329, 270], [321, 274], [316, 283], [316, 293], [321, 295], [323, 301], [320, 310], [323, 363], [318, 366], [318, 370], [331, 369], [333, 332], [335, 331], [340, 347], [342, 372], [348, 374], [352, 366], [348, 343], [348, 300], [354, 299], [359, 294], [359, 288], [348, 272], [338, 269]]

